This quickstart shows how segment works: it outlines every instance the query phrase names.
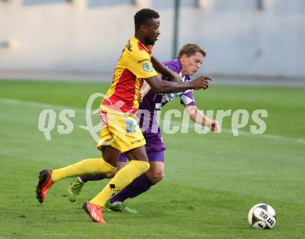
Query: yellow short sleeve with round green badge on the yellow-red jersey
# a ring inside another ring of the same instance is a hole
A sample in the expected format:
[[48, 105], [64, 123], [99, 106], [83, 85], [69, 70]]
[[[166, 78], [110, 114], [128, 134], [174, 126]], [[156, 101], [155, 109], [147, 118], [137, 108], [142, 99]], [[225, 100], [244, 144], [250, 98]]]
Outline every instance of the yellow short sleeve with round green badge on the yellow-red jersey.
[[128, 69], [134, 73], [137, 78], [150, 78], [157, 76], [157, 71], [153, 68], [149, 54], [133, 53], [128, 62]]

